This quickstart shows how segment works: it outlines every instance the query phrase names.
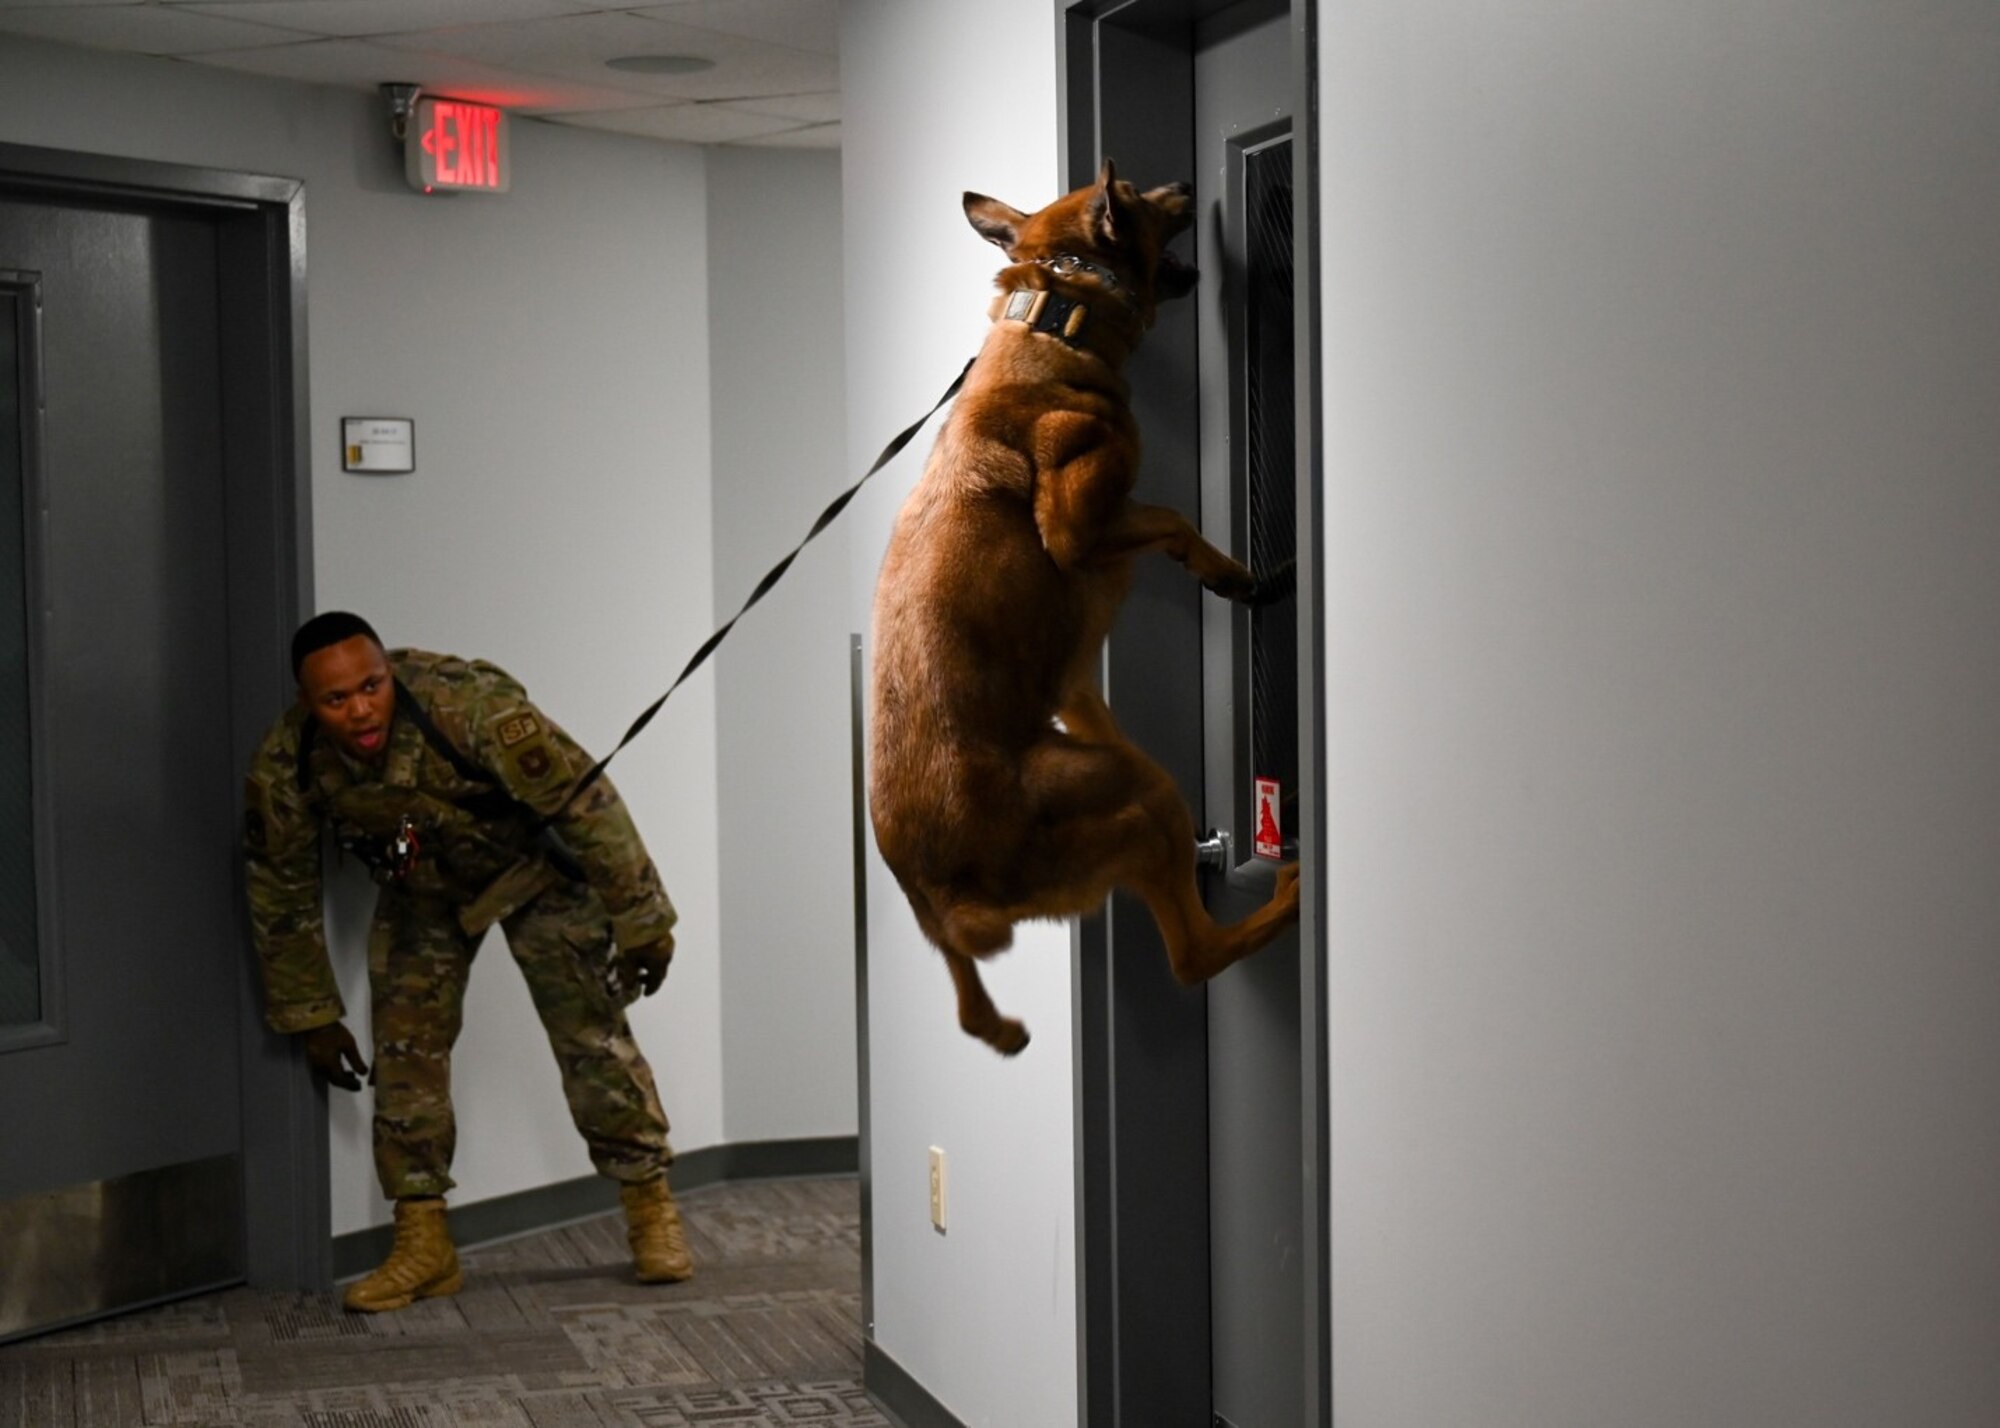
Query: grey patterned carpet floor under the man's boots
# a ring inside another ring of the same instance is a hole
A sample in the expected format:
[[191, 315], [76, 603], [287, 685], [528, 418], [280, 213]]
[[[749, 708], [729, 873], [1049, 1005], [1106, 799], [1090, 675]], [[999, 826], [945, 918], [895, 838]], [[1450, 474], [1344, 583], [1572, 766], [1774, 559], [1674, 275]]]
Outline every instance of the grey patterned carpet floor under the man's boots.
[[610, 1214], [466, 1250], [464, 1292], [394, 1314], [228, 1290], [0, 1348], [0, 1428], [892, 1428], [858, 1184], [680, 1200], [688, 1284], [634, 1282]]

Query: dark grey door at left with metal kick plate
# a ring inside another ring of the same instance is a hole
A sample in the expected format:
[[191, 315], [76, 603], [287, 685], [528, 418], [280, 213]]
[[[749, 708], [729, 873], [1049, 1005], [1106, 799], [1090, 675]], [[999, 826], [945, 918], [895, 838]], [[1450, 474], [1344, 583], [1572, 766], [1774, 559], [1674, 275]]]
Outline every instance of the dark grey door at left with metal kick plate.
[[0, 1338], [242, 1278], [220, 252], [0, 196]]

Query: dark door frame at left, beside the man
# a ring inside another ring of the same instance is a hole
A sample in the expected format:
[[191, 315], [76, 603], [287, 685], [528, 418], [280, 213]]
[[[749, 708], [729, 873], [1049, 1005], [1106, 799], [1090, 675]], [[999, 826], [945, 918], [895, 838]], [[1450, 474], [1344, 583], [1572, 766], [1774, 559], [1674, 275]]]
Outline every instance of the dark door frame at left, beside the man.
[[[304, 182], [0, 144], [0, 194], [136, 202], [216, 220], [228, 732], [248, 758], [272, 714], [294, 698], [286, 650], [312, 608]], [[244, 1266], [250, 1284], [316, 1288], [332, 1270], [326, 1094], [290, 1038], [264, 1028], [248, 920], [240, 928]]]

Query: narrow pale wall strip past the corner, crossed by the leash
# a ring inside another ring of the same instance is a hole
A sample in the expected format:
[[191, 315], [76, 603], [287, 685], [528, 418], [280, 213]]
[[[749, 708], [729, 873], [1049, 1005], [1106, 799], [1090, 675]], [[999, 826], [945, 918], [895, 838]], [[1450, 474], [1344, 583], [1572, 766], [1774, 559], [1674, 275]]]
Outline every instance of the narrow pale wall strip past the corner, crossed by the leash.
[[[714, 600], [726, 620], [846, 470], [840, 156], [708, 150]], [[850, 550], [834, 524], [716, 654], [728, 1140], [852, 1136]]]

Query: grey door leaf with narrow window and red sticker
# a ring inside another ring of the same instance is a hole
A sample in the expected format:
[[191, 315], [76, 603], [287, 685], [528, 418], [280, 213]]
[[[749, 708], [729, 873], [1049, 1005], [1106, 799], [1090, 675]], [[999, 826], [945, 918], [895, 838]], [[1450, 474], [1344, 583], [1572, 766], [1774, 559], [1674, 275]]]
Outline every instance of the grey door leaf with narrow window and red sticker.
[[[1266, 576], [1298, 556], [1290, 44], [1288, 14], [1236, 6], [1194, 48], [1202, 528]], [[1298, 858], [1296, 596], [1208, 602], [1202, 686], [1208, 818], [1232, 832], [1208, 906], [1236, 922]], [[1298, 948], [1288, 932], [1208, 986], [1210, 1372], [1232, 1428], [1304, 1420]]]

